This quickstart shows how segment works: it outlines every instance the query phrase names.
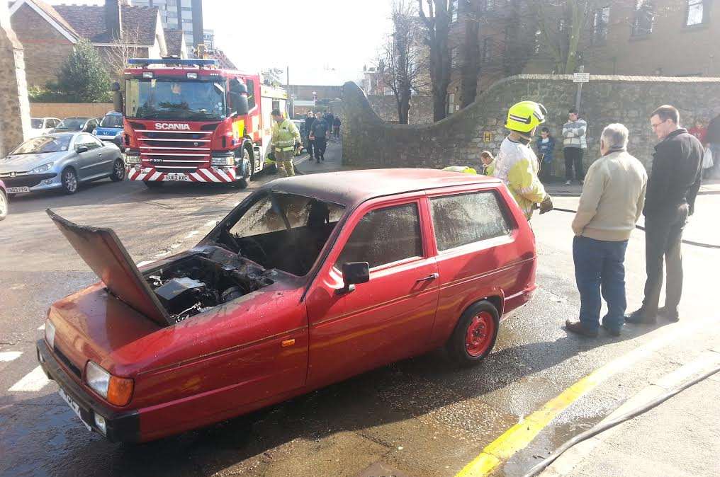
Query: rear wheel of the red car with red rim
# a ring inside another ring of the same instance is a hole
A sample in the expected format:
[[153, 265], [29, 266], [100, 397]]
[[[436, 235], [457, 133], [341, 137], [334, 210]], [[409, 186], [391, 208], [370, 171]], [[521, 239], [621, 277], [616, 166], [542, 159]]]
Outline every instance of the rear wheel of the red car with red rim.
[[498, 309], [489, 301], [478, 301], [469, 306], [446, 344], [451, 360], [461, 366], [480, 363], [495, 346], [499, 324]]

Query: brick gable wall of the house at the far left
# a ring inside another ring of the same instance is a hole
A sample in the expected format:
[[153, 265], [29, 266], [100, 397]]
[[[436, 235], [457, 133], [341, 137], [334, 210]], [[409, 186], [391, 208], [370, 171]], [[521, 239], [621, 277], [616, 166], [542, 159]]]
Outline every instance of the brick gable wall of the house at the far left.
[[24, 47], [27, 85], [45, 86], [55, 81], [73, 44], [27, 4], [13, 14], [12, 27]]

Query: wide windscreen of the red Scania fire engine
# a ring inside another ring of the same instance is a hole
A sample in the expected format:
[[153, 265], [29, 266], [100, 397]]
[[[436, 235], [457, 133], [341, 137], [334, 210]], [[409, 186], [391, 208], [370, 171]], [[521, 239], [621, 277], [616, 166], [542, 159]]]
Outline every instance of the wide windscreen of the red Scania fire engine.
[[125, 116], [138, 119], [221, 119], [225, 86], [208, 81], [130, 79], [125, 83]]

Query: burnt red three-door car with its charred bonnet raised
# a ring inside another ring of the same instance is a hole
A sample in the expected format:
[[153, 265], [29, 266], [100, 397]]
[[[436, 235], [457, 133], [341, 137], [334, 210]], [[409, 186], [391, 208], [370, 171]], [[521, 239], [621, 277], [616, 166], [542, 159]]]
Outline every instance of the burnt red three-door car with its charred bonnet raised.
[[112, 230], [48, 214], [103, 283], [50, 307], [38, 358], [111, 441], [219, 422], [442, 345], [477, 363], [535, 289], [533, 232], [483, 176], [279, 179], [140, 270]]

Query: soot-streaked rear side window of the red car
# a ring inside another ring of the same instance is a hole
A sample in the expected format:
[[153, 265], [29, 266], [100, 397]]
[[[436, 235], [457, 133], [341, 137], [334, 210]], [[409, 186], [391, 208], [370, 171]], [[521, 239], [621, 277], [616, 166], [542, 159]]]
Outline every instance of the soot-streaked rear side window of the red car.
[[430, 200], [438, 250], [449, 250], [510, 233], [498, 196], [491, 191]]

